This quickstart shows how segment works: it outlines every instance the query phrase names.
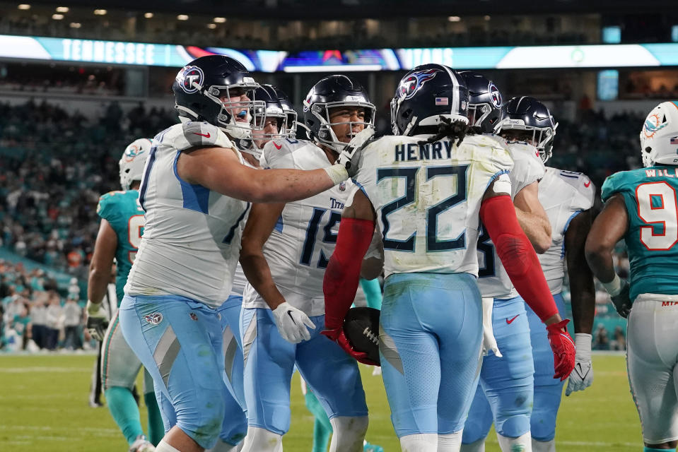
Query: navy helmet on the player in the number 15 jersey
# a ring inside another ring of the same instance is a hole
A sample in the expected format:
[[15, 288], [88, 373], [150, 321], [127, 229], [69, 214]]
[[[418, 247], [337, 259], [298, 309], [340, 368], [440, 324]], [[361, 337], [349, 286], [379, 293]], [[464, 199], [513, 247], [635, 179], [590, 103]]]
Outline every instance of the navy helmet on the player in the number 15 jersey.
[[[362, 107], [365, 119], [360, 122], [330, 122], [329, 110], [337, 107]], [[363, 86], [347, 76], [329, 76], [313, 85], [304, 100], [304, 126], [308, 138], [340, 153], [348, 143], [339, 141], [332, 126], [363, 124], [374, 126], [375, 106]]]

